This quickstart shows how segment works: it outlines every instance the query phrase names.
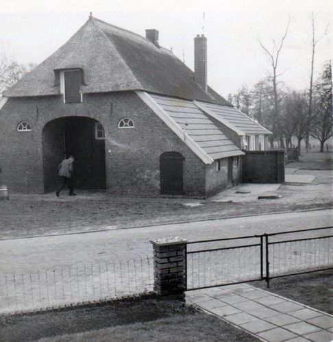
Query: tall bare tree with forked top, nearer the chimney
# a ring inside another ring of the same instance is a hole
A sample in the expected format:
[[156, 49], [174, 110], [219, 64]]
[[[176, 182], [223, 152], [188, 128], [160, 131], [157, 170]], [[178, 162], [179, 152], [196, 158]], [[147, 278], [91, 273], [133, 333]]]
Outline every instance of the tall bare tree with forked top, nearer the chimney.
[[[278, 62], [279, 62], [279, 57], [280, 57], [280, 53], [282, 51], [283, 45], [284, 45], [284, 40], [286, 39], [286, 36], [288, 34], [288, 29], [289, 29], [289, 25], [290, 25], [290, 17], [288, 18], [288, 23], [286, 25], [286, 29], [284, 32], [284, 35], [282, 36], [280, 42], [277, 44], [275, 42], [275, 40], [273, 39], [273, 48], [271, 50], [269, 50], [267, 47], [265, 47], [262, 42], [259, 40], [259, 44], [260, 47], [262, 47], [262, 49], [264, 50], [264, 52], [267, 53], [267, 56], [269, 56], [269, 60], [271, 63], [271, 67], [272, 67], [272, 72], [273, 75], [271, 76], [271, 82], [272, 82], [272, 86], [273, 86], [273, 97], [274, 97], [274, 115], [273, 115], [273, 137], [274, 138], [280, 138], [280, 143], [282, 145], [282, 147], [284, 147], [284, 143], [283, 143], [283, 139], [282, 139], [282, 134], [281, 134], [281, 130], [280, 130], [280, 121], [279, 121], [279, 117], [280, 117], [280, 108], [279, 108], [279, 92], [277, 90], [277, 77], [279, 77], [280, 75], [277, 74], [277, 66], [278, 66]], [[273, 147], [273, 143], [271, 142], [271, 147]]]

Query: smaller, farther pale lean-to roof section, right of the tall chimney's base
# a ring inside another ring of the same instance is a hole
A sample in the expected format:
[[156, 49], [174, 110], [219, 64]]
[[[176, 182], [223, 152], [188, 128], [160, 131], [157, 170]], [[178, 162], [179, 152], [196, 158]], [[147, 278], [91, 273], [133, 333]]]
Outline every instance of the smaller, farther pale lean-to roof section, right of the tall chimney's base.
[[207, 114], [221, 121], [221, 123], [227, 125], [227, 127], [230, 127], [238, 134], [271, 134], [269, 130], [234, 107], [219, 106], [202, 101], [195, 102]]

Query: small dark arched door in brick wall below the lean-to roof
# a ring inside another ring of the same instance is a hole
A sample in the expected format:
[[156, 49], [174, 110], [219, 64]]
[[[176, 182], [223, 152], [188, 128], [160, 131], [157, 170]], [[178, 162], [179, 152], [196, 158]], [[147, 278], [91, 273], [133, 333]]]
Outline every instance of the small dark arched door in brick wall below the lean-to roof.
[[165, 152], [160, 156], [161, 194], [180, 195], [183, 190], [184, 157], [178, 152]]

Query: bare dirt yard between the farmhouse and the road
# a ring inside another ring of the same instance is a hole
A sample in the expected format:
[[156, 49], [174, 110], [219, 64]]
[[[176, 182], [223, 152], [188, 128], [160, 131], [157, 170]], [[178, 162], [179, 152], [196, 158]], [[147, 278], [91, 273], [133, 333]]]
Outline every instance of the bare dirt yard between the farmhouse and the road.
[[282, 184], [278, 190], [281, 199], [258, 199], [246, 204], [81, 191], [75, 197], [64, 194], [59, 199], [53, 193], [11, 193], [9, 201], [0, 201], [0, 239], [261, 215], [333, 205], [330, 194], [330, 186], [333, 184], [332, 153], [304, 152], [299, 162], [288, 163], [286, 167], [297, 170], [298, 174], [315, 175], [316, 178], [311, 184], [302, 186]]

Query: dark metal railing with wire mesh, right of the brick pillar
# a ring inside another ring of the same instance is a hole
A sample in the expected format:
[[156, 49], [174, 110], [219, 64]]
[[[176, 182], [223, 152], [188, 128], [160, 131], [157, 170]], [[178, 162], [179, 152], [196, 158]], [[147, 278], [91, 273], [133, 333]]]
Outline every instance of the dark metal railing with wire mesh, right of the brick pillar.
[[[248, 242], [236, 243], [244, 240]], [[200, 247], [193, 250], [193, 245]], [[266, 280], [269, 286], [273, 278], [328, 269], [333, 269], [333, 227], [186, 244], [188, 291], [256, 280]]]

